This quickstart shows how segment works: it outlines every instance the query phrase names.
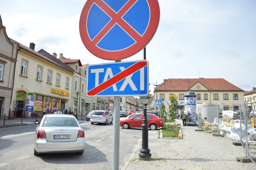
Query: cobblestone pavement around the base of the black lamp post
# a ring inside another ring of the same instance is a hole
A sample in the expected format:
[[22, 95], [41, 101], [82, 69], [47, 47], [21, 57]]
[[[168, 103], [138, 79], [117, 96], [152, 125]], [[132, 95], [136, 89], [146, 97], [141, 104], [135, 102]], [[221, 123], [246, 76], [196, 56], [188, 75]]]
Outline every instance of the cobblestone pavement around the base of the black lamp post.
[[183, 139], [158, 138], [159, 131], [148, 131], [148, 148], [151, 160], [139, 159], [141, 142], [134, 149], [130, 162], [121, 170], [142, 169], [256, 169], [254, 163], [241, 163], [236, 157], [245, 157], [242, 146], [233, 141], [213, 136], [205, 131], [195, 131], [197, 126], [181, 126]]

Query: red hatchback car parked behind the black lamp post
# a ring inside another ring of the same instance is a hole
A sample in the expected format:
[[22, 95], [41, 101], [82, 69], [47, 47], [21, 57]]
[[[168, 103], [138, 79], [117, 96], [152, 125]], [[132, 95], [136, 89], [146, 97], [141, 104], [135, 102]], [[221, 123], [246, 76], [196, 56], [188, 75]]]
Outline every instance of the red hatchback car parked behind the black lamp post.
[[[156, 130], [158, 127], [163, 127], [164, 125], [163, 118], [158, 117], [155, 114], [148, 113], [147, 118], [148, 118], [148, 125], [151, 130]], [[127, 117], [126, 119], [120, 120], [120, 127], [123, 127], [123, 129], [128, 129], [130, 127], [141, 128], [142, 119], [143, 119], [143, 113], [136, 114], [130, 118]]]

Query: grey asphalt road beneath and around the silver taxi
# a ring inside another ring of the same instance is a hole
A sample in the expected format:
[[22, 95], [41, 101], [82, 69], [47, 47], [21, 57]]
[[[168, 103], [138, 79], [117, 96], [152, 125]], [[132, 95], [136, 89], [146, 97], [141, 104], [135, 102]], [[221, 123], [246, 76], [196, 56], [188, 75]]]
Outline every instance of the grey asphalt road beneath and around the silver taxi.
[[[107, 126], [80, 121], [85, 131], [83, 155], [53, 153], [34, 156], [36, 125], [0, 129], [0, 169], [112, 169], [113, 124]], [[119, 168], [130, 160], [142, 136], [141, 128], [120, 129]]]

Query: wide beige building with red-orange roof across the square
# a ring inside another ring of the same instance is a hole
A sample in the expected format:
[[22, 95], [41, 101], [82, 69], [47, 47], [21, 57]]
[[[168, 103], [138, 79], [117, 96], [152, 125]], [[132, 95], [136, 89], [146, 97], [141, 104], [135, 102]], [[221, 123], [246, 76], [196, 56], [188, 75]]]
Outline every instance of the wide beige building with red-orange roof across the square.
[[[161, 99], [169, 110], [169, 95], [178, 96], [179, 109], [184, 109], [184, 95], [192, 90], [197, 95], [197, 104], [209, 103], [223, 110], [240, 110], [244, 103], [244, 90], [223, 78], [167, 79], [154, 90], [155, 99]], [[154, 103], [153, 103], [154, 104]], [[156, 106], [154, 105], [154, 108]]]

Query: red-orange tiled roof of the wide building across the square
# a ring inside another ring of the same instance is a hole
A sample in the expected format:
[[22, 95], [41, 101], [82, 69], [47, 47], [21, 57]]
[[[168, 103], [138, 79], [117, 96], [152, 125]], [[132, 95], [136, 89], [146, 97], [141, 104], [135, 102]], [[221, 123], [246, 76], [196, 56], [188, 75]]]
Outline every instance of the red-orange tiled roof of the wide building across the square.
[[215, 91], [244, 91], [239, 87], [231, 84], [227, 80], [224, 80], [223, 78], [169, 78], [164, 81], [164, 85], [161, 84], [157, 88], [157, 91], [187, 91], [197, 82], [200, 82], [209, 90], [212, 89]]

